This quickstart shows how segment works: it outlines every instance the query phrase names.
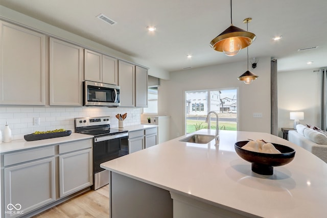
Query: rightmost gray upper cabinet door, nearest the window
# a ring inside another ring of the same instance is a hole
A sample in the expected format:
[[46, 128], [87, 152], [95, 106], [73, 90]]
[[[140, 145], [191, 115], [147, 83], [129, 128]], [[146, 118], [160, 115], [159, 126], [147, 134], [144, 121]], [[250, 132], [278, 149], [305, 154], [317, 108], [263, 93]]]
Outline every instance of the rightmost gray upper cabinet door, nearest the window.
[[148, 107], [148, 70], [135, 68], [135, 106]]

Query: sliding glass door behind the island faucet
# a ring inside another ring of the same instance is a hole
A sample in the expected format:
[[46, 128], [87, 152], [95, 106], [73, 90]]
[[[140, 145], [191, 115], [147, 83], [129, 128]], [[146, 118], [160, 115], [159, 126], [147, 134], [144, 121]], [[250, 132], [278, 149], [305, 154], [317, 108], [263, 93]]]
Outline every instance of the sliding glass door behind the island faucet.
[[214, 114], [205, 123], [209, 111], [218, 114], [219, 129], [237, 130], [237, 88], [185, 91], [185, 132], [207, 129], [208, 125], [215, 130]]

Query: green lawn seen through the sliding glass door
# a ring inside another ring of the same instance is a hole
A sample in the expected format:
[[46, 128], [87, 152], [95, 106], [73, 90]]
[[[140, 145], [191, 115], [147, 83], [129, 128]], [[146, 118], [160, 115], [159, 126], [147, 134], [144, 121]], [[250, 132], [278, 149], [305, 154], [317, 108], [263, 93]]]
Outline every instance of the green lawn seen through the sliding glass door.
[[[192, 120], [189, 119], [186, 121], [186, 133], [192, 133], [197, 131], [195, 129], [195, 125], [200, 126], [200, 129], [207, 129], [208, 128], [208, 124], [205, 122], [201, 122], [199, 120]], [[236, 122], [219, 122], [219, 129], [221, 130], [237, 130], [236, 129], [237, 124]], [[211, 128], [215, 130], [216, 129], [216, 122], [211, 122]]]

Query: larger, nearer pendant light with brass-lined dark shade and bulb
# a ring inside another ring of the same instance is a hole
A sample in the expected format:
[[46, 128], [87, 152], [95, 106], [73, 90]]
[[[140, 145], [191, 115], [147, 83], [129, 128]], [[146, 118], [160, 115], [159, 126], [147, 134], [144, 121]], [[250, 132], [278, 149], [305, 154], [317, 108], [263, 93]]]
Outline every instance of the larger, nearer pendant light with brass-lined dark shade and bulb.
[[249, 46], [255, 40], [253, 33], [235, 27], [231, 18], [231, 0], [230, 0], [230, 27], [214, 38], [210, 45], [214, 50], [223, 52], [227, 56], [237, 55], [241, 49]]

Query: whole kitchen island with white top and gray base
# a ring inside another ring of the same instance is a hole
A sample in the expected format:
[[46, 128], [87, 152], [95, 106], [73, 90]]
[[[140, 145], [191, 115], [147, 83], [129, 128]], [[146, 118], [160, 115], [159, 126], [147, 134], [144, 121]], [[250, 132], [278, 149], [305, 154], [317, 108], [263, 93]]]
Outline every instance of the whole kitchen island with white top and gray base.
[[[101, 164], [110, 171], [112, 218], [326, 216], [327, 164], [308, 151], [267, 133], [220, 131], [219, 146], [184, 137]], [[253, 173], [234, 149], [247, 139], [292, 147], [295, 158], [272, 176]]]

